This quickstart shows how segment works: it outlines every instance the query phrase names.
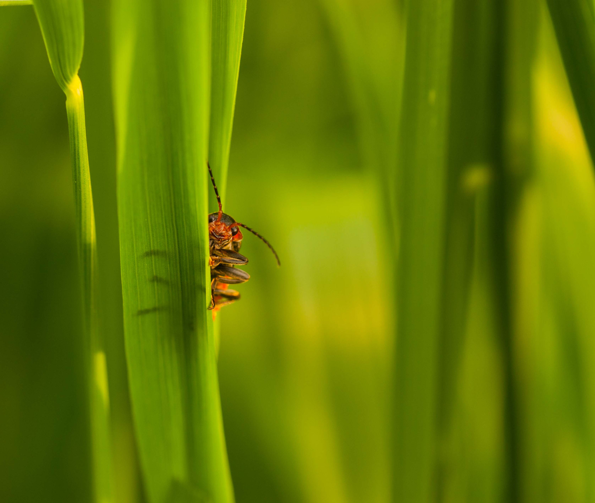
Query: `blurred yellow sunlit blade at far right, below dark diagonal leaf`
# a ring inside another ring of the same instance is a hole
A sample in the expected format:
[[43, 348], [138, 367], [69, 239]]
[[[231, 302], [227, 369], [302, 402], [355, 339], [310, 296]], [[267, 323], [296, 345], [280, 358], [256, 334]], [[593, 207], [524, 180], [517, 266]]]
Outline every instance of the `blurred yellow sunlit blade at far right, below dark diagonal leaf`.
[[[544, 376], [531, 426], [533, 501], [588, 501], [593, 495], [595, 183], [583, 130], [547, 10], [542, 8], [534, 70], [536, 170], [541, 199], [540, 336]], [[560, 123], [566, 125], [560, 132]], [[555, 348], [554, 351], [552, 349]], [[563, 413], [560, 413], [563, 411]], [[561, 447], [563, 446], [563, 448]], [[572, 476], [560, 470], [572, 466]], [[561, 496], [563, 495], [563, 496]]]

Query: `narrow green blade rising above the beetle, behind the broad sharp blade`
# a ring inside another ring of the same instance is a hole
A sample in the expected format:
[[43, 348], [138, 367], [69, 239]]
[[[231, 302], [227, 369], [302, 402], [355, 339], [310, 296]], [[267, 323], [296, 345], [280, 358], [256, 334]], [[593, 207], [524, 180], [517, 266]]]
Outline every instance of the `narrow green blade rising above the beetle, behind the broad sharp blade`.
[[[231, 128], [236, 106], [245, 17], [246, 0], [212, 2], [209, 162], [223, 202], [227, 188]], [[217, 208], [212, 190], [209, 190], [209, 199], [209, 208]]]

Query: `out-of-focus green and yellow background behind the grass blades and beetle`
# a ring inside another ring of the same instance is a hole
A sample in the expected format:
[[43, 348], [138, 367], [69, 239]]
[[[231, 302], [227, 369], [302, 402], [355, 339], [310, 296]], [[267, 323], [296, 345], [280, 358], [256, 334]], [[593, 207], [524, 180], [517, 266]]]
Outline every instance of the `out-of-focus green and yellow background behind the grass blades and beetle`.
[[[385, 70], [396, 38], [387, 4], [372, 2], [358, 18], [386, 52], [372, 62]], [[595, 501], [595, 184], [551, 22], [535, 5], [524, 104], [531, 130], [519, 132], [531, 168], [515, 189], [509, 236], [516, 501], [587, 502]], [[371, 126], [362, 119], [329, 12], [328, 2], [312, 0], [248, 2], [224, 210], [266, 236], [283, 265], [246, 235], [252, 278], [242, 301], [220, 314], [238, 502], [391, 497], [394, 240], [365, 139], [383, 113], [368, 116]], [[116, 493], [140, 502], [121, 326], [108, 6], [86, 1], [85, 15], [81, 78]], [[379, 94], [386, 73], [374, 76]], [[477, 189], [471, 287], [431, 494], [508, 501], [506, 355], [481, 189], [489, 176], [469, 183]], [[90, 501], [68, 129], [31, 7], [0, 8], [0, 236], [0, 501]]]

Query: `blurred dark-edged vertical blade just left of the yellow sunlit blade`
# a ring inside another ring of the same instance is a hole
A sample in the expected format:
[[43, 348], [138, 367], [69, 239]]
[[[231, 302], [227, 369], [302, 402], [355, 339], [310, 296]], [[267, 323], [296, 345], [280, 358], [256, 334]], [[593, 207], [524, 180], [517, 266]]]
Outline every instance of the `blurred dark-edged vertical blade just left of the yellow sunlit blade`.
[[[539, 272], [534, 257], [540, 243], [535, 237], [535, 170], [533, 160], [533, 92], [531, 82], [537, 42], [538, 2], [508, 2], [503, 20], [502, 157], [496, 166], [491, 203], [491, 264], [500, 333], [504, 386], [504, 444], [506, 446], [507, 500], [522, 501], [530, 476], [529, 426], [539, 411], [528, 399], [535, 379], [528, 339], [538, 338], [535, 300]], [[527, 377], [530, 376], [530, 377]]]

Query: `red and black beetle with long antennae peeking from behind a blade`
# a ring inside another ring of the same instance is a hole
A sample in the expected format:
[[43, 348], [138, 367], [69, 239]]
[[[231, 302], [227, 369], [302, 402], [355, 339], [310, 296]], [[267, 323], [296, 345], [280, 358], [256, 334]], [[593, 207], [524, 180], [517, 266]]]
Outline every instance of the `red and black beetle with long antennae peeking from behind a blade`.
[[[240, 227], [248, 230], [257, 238], [264, 241], [277, 260], [277, 265], [281, 265], [277, 252], [265, 238], [259, 235], [253, 229], [241, 222], [237, 222], [227, 213], [223, 213], [221, 207], [221, 198], [215, 183], [215, 177], [211, 170], [211, 165], [206, 163], [211, 175], [211, 182], [217, 196], [219, 211], [209, 213], [209, 265], [211, 266], [211, 305], [209, 310], [215, 312], [224, 305], [231, 304], [240, 299], [240, 293], [237, 290], [228, 288], [229, 285], [245, 283], [250, 279], [250, 274], [242, 269], [237, 269], [236, 265], [248, 264], [248, 258], [240, 254], [242, 247], [242, 231]], [[213, 317], [215, 316], [213, 313]]]

